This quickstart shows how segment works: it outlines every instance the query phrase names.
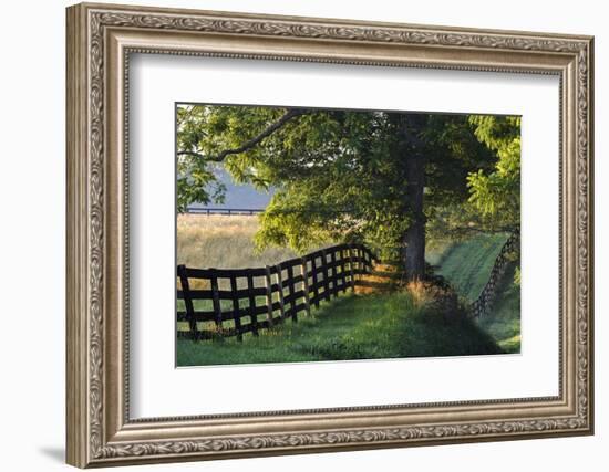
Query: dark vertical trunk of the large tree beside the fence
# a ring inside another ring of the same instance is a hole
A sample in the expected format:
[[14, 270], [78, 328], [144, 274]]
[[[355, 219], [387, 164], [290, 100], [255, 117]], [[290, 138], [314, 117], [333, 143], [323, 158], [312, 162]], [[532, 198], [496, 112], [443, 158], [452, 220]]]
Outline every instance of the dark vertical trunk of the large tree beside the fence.
[[[411, 119], [417, 120], [423, 117], [416, 116]], [[403, 128], [406, 144], [404, 149], [406, 208], [411, 217], [411, 224], [402, 240], [402, 263], [409, 280], [421, 280], [425, 276], [425, 213], [423, 212], [425, 156], [421, 141], [414, 132], [422, 126], [424, 124], [406, 120]]]

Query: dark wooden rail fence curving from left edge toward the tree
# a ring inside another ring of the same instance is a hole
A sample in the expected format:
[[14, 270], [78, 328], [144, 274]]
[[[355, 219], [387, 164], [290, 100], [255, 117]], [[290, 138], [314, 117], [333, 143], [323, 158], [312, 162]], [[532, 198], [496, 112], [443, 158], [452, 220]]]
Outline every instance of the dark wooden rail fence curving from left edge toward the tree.
[[376, 261], [363, 244], [339, 244], [280, 262], [251, 269], [193, 269], [177, 266], [182, 290], [177, 298], [185, 310], [178, 322], [188, 322], [193, 339], [258, 336], [311, 306], [354, 290], [361, 275]]

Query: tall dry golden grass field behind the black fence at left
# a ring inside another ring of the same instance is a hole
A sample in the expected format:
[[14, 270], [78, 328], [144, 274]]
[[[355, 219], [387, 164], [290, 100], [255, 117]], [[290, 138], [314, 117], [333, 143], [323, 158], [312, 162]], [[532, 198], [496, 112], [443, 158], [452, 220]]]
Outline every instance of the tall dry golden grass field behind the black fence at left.
[[257, 216], [178, 214], [177, 263], [190, 268], [244, 269], [277, 264], [296, 256], [287, 248], [254, 247]]

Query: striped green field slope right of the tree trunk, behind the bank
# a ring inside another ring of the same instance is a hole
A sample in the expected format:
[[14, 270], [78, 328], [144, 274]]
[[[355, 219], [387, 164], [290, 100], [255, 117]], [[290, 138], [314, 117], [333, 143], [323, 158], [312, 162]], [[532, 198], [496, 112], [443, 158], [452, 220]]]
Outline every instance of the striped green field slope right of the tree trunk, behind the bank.
[[441, 260], [436, 273], [444, 276], [460, 295], [473, 302], [488, 281], [506, 240], [506, 234], [481, 234], [452, 244], [443, 255], [436, 255]]

